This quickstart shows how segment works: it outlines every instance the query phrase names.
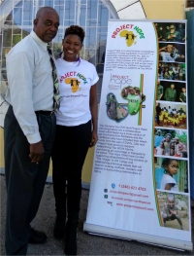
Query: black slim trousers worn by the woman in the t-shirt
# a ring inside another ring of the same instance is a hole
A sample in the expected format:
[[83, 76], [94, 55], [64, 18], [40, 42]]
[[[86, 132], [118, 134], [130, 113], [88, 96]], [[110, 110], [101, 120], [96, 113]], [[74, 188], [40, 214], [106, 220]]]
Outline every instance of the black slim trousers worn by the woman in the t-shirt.
[[[52, 180], [57, 216], [66, 218], [66, 182], [68, 219], [78, 217], [81, 201], [81, 170], [91, 141], [91, 121], [81, 126], [56, 126], [52, 149]], [[75, 213], [75, 214], [74, 214]]]

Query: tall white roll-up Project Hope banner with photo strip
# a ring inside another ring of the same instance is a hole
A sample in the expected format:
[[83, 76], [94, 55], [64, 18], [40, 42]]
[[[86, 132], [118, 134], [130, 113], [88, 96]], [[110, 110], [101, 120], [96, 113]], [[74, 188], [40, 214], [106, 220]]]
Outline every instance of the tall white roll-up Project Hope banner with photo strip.
[[186, 20], [109, 20], [83, 230], [192, 250]]

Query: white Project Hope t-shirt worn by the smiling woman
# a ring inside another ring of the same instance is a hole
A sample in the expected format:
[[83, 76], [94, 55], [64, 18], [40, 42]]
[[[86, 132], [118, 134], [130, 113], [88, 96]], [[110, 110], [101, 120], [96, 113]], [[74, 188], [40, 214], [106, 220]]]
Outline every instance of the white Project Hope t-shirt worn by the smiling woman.
[[56, 124], [75, 127], [87, 123], [91, 119], [90, 88], [99, 79], [95, 66], [83, 59], [68, 62], [58, 58], [55, 63], [61, 96]]

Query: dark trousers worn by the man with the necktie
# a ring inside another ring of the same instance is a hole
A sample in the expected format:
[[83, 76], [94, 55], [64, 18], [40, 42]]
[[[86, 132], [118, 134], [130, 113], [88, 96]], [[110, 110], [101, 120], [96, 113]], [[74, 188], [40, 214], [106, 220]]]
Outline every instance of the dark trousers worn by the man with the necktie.
[[55, 135], [55, 115], [37, 116], [45, 155], [39, 165], [31, 163], [29, 142], [10, 106], [5, 118], [5, 174], [7, 185], [6, 254], [26, 255], [30, 222], [36, 216], [49, 171]]

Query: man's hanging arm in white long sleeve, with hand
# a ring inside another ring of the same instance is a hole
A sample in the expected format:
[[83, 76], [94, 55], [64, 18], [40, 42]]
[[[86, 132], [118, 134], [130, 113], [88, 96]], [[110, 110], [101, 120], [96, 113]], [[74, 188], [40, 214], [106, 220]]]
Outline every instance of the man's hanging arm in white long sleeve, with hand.
[[39, 162], [43, 158], [44, 148], [33, 107], [34, 58], [24, 52], [17, 53], [8, 58], [7, 71], [11, 104], [16, 120], [31, 144], [31, 160]]

